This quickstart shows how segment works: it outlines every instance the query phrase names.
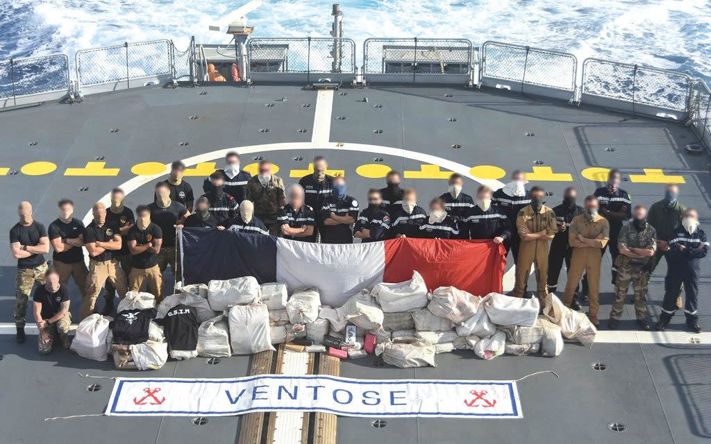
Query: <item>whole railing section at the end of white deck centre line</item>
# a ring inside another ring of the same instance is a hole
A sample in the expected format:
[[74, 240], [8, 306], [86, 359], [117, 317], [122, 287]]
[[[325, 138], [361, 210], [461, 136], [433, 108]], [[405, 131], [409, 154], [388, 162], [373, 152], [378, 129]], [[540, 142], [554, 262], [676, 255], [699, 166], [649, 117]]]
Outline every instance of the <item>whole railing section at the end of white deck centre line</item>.
[[251, 82], [296, 82], [321, 79], [355, 81], [355, 42], [350, 38], [250, 38], [247, 75]]

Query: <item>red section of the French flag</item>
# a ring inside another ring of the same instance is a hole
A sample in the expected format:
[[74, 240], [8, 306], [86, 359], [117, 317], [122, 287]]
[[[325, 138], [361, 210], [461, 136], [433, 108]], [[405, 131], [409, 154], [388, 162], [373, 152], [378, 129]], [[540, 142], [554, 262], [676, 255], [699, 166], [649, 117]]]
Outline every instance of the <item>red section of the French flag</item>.
[[475, 296], [503, 291], [506, 249], [488, 240], [400, 237], [385, 241], [383, 281], [402, 282], [417, 270], [430, 291], [453, 286]]

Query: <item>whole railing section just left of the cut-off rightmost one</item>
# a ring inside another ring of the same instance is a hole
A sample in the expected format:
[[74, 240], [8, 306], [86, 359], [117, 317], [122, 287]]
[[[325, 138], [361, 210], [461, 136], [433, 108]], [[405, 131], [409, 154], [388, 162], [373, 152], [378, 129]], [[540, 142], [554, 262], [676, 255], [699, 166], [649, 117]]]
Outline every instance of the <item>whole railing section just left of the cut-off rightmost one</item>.
[[681, 121], [689, 114], [692, 87], [681, 72], [587, 58], [580, 102]]

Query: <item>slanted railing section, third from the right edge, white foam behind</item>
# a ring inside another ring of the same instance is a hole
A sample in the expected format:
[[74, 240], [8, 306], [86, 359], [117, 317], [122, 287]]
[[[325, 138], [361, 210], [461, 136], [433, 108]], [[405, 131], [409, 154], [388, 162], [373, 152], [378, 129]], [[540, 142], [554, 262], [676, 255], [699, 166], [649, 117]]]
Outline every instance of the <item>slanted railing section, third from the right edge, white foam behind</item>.
[[487, 41], [481, 47], [479, 85], [571, 100], [577, 64], [569, 53]]

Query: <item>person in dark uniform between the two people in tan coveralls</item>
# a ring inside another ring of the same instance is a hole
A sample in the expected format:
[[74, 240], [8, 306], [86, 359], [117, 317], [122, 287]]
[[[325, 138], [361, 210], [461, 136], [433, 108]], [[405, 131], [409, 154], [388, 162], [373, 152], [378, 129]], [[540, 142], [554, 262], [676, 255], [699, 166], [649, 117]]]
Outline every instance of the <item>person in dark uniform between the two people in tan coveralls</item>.
[[[548, 291], [552, 293], [557, 291], [560, 269], [562, 269], [564, 261], [565, 269], [570, 270], [570, 257], [572, 256], [573, 250], [568, 243], [567, 227], [570, 226], [574, 217], [582, 215], [584, 212], [583, 207], [575, 204], [576, 198], [577, 190], [575, 188], [565, 188], [562, 204], [553, 207], [558, 232], [555, 234], [555, 237], [553, 237], [553, 242], [550, 243], [550, 253], [548, 254]], [[578, 291], [579, 286], [576, 286], [576, 296], [573, 296], [571, 303], [573, 310], [580, 310], [580, 304], [577, 301]]]

